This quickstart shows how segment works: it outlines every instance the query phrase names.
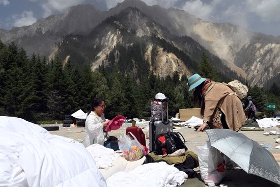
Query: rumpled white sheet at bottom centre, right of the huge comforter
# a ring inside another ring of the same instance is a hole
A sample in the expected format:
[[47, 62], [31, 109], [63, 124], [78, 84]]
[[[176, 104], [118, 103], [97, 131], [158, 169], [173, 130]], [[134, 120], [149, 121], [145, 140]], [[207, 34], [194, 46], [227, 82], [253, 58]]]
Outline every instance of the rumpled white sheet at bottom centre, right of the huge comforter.
[[149, 163], [130, 172], [115, 173], [106, 182], [108, 187], [177, 186], [184, 182], [184, 172], [165, 162]]

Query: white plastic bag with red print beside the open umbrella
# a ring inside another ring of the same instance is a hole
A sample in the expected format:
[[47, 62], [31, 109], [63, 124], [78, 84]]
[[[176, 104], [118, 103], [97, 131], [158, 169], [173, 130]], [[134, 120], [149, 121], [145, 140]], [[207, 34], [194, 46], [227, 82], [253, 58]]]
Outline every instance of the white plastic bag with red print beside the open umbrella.
[[197, 147], [201, 178], [208, 186], [215, 186], [226, 176], [226, 162], [220, 151], [206, 141], [204, 146]]

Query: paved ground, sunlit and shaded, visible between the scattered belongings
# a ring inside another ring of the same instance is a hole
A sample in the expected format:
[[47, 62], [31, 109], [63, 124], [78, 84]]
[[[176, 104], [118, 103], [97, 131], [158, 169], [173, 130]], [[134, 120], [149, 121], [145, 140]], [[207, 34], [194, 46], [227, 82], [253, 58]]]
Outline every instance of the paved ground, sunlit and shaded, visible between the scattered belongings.
[[[125, 133], [125, 129], [129, 126], [131, 126], [132, 123], [125, 123], [123, 126], [118, 129], [109, 132], [110, 136], [116, 136], [117, 138], [120, 137], [121, 133]], [[47, 125], [41, 125], [41, 126], [47, 126]], [[57, 131], [49, 131], [53, 135], [59, 135], [67, 138], [71, 138], [74, 140], [77, 140], [83, 144], [83, 141], [85, 140], [85, 127], [62, 127], [62, 124], [57, 124], [54, 126], [60, 126], [60, 129]], [[143, 129], [144, 133], [146, 134], [148, 130], [148, 122], [147, 123], [136, 123], [136, 126], [139, 126], [140, 128]], [[262, 146], [269, 146], [272, 148], [267, 148], [268, 151], [271, 153], [279, 153], [280, 154], [280, 149], [276, 149], [273, 146], [280, 145], [280, 143], [276, 143], [275, 140], [278, 139], [278, 135], [268, 135], [265, 136], [263, 135], [263, 132], [269, 132], [276, 130], [275, 127], [272, 128], [265, 128], [264, 131], [241, 131], [240, 133], [243, 133], [245, 136], [248, 138], [258, 142]], [[208, 136], [207, 133], [204, 132], [196, 132], [194, 131], [194, 128], [183, 128], [179, 127], [174, 130], [175, 132], [178, 131], [182, 133], [183, 137], [185, 138], [186, 146], [188, 150], [197, 153], [197, 147], [198, 146], [203, 146], [206, 144], [206, 141], [208, 141]], [[149, 145], [149, 140], [146, 139], [147, 147]], [[279, 164], [280, 162], [278, 162]], [[194, 168], [195, 171], [199, 173], [199, 167]], [[196, 181], [193, 180], [192, 185], [191, 179], [188, 179], [188, 183], [190, 185], [186, 186], [207, 186], [204, 184], [204, 182], [200, 178], [200, 174], [198, 175], [198, 178], [195, 179]], [[200, 181], [198, 181], [200, 180]], [[232, 186], [240, 186], [240, 187], [255, 187], [255, 186], [280, 186], [277, 185], [269, 180], [266, 180], [262, 177], [258, 177], [255, 175], [247, 174], [244, 170], [242, 170], [240, 167], [235, 167], [233, 170], [228, 172], [228, 175], [221, 181], [221, 184], [224, 186], [232, 187]], [[217, 186], [221, 186], [221, 184], [218, 184]]]

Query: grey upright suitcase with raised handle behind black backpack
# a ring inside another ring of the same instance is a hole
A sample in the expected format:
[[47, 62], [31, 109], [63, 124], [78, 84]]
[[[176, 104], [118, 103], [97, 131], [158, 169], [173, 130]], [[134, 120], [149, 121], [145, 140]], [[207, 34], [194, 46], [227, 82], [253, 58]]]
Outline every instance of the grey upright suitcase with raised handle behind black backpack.
[[[173, 132], [173, 123], [168, 118], [168, 103], [167, 99], [160, 100], [161, 101], [161, 120], [150, 121], [149, 123], [149, 150], [150, 152], [155, 151], [155, 139], [157, 135], [161, 133], [166, 133], [168, 131]], [[162, 104], [166, 103], [166, 118], [163, 116], [163, 106]]]

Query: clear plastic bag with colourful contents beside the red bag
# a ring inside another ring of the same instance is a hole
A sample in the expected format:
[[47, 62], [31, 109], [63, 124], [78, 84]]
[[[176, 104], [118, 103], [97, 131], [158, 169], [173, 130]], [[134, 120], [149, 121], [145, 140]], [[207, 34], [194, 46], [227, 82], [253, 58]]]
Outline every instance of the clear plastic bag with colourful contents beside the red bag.
[[131, 132], [129, 132], [128, 135], [132, 136], [134, 140], [123, 132], [120, 135], [119, 148], [123, 152], [124, 159], [131, 162], [137, 161], [144, 155], [145, 148], [137, 141], [136, 137]]

